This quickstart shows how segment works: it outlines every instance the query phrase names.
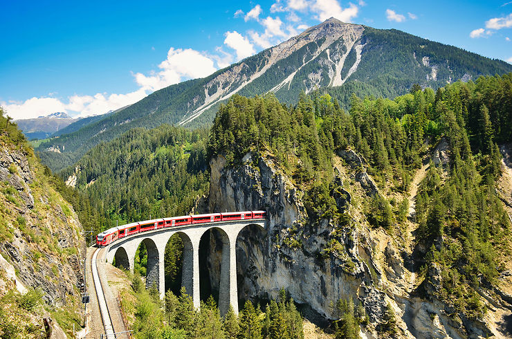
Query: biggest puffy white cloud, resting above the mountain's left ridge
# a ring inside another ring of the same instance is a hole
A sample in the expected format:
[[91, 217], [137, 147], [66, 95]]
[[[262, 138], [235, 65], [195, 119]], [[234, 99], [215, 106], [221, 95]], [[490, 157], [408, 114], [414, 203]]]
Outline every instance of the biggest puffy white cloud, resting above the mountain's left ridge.
[[134, 77], [137, 84], [145, 90], [157, 91], [185, 79], [205, 77], [217, 71], [210, 57], [190, 48], [183, 50], [172, 47], [167, 52], [167, 59], [161, 62], [158, 68], [162, 71], [152, 72], [149, 76], [136, 73]]

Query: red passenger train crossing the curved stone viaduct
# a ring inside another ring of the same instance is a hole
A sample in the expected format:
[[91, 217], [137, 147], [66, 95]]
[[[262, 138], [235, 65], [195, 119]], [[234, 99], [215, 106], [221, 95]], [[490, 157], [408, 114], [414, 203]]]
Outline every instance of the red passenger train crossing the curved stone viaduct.
[[194, 223], [215, 223], [219, 221], [265, 219], [265, 217], [265, 211], [245, 211], [184, 215], [182, 217], [145, 220], [136, 223], [127, 223], [126, 225], [104, 230], [96, 236], [96, 245], [99, 247], [107, 246], [117, 239], [128, 237], [139, 232], [145, 232], [147, 230], [158, 230], [158, 228], [192, 225]]

